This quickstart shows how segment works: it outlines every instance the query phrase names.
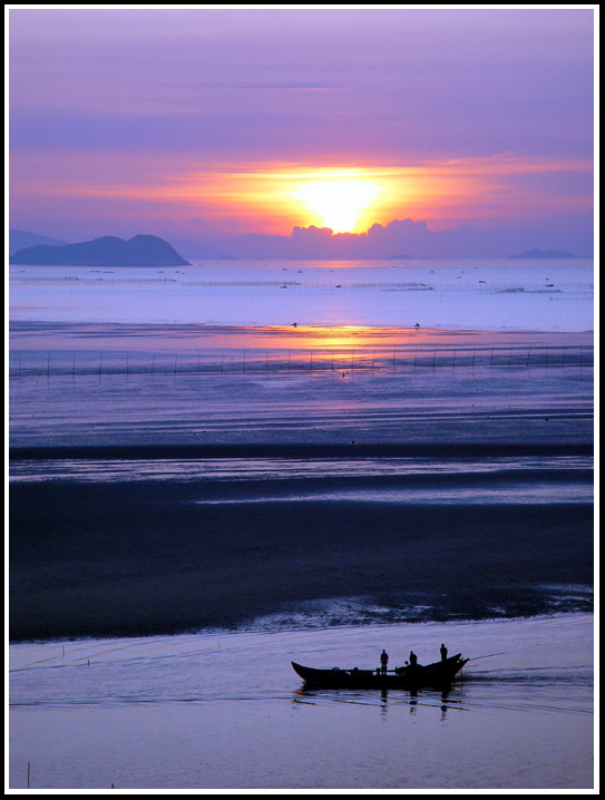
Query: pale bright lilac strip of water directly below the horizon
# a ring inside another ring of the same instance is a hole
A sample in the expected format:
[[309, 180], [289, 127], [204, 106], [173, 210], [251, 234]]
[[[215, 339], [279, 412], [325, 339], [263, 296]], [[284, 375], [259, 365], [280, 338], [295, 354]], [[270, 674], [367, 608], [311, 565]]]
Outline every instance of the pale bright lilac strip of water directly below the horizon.
[[593, 260], [11, 266], [11, 320], [592, 329]]

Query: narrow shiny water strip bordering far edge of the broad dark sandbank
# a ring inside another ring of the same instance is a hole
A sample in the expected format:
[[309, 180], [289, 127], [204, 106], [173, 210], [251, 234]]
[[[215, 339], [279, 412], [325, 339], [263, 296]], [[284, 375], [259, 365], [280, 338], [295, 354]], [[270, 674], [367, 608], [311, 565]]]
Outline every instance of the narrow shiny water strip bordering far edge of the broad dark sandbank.
[[[396, 478], [403, 480], [394, 485]], [[465, 505], [592, 503], [593, 459], [587, 456], [486, 459], [49, 459], [13, 462], [9, 480], [195, 482], [201, 494], [211, 495], [197, 503], [214, 505], [296, 500]], [[302, 491], [301, 480], [305, 481]], [[231, 496], [233, 486], [241, 487], [235, 498]], [[222, 487], [224, 491], [221, 491]]]

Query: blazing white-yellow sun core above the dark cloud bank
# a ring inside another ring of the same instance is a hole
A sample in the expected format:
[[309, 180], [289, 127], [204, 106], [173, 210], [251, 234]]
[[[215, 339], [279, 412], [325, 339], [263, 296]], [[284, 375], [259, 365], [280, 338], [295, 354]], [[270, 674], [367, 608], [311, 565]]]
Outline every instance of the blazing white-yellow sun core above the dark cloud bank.
[[323, 178], [302, 184], [294, 197], [318, 218], [320, 227], [330, 227], [334, 233], [352, 233], [361, 225], [364, 212], [379, 194], [379, 187], [370, 181]]

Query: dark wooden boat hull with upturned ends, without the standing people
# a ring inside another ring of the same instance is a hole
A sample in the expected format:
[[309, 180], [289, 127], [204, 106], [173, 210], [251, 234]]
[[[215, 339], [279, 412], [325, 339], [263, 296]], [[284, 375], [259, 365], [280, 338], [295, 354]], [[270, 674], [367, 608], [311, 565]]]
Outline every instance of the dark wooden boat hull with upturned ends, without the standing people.
[[442, 689], [448, 686], [468, 658], [460, 653], [437, 661], [435, 664], [421, 666], [399, 666], [389, 670], [386, 675], [379, 670], [341, 670], [338, 666], [331, 670], [315, 670], [292, 662], [292, 666], [305, 684], [321, 689]]

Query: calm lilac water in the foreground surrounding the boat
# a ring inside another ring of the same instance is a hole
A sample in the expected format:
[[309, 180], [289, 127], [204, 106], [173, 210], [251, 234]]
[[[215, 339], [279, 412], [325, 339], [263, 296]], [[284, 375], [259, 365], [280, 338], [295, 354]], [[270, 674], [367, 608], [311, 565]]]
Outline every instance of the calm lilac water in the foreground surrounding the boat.
[[[591, 615], [20, 644], [11, 787], [589, 788]], [[306, 691], [290, 666], [470, 657], [446, 695]]]

